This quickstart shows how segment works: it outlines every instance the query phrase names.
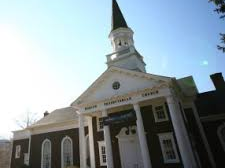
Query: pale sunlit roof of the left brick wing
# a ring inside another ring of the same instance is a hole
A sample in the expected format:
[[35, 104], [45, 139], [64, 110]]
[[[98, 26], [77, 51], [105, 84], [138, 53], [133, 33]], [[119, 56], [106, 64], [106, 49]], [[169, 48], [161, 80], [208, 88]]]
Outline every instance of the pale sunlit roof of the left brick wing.
[[73, 107], [65, 107], [61, 109], [56, 109], [47, 116], [43, 117], [36, 123], [32, 124], [29, 128], [54, 124], [54, 123], [61, 123], [66, 121], [78, 120], [78, 115], [76, 110]]

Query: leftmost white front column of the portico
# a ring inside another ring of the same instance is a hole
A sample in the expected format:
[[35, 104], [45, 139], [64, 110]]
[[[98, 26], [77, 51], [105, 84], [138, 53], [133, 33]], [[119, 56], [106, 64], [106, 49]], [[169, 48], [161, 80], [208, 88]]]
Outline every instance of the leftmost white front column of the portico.
[[79, 114], [79, 145], [80, 145], [80, 168], [87, 168], [85, 132], [84, 132], [84, 116], [82, 114]]

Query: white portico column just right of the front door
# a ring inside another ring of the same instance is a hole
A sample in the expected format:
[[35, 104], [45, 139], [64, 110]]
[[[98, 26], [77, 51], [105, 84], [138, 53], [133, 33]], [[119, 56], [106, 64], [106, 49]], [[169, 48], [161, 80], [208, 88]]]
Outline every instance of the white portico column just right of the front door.
[[146, 139], [144, 125], [143, 125], [143, 120], [141, 116], [140, 106], [138, 103], [133, 104], [133, 106], [134, 106], [134, 110], [137, 117], [136, 124], [137, 124], [138, 138], [139, 138], [139, 143], [141, 147], [141, 156], [144, 163], [144, 168], [151, 168], [152, 165], [151, 165], [148, 144], [147, 144], [147, 139]]

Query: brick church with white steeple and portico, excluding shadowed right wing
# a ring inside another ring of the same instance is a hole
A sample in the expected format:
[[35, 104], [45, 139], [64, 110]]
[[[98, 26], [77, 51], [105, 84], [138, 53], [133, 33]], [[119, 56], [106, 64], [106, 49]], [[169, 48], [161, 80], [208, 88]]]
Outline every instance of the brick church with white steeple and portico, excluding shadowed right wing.
[[146, 72], [133, 34], [113, 0], [108, 68], [69, 107], [13, 132], [11, 168], [213, 167], [208, 155], [203, 166], [202, 135], [188, 122], [197, 113], [193, 78]]

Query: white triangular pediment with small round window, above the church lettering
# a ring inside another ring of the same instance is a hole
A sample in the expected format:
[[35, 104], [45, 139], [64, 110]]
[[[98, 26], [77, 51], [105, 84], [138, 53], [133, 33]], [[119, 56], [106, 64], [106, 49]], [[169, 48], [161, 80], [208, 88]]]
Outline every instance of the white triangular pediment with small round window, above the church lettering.
[[[72, 106], [98, 102], [145, 88], [154, 88], [168, 84], [171, 79], [170, 77], [110, 67], [72, 103]], [[115, 82], [119, 82], [119, 89], [113, 88]]]

